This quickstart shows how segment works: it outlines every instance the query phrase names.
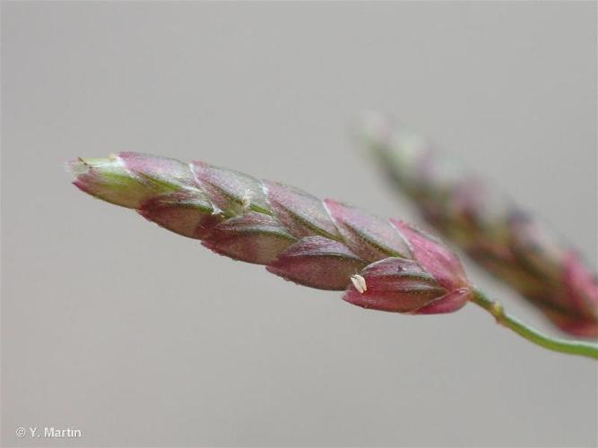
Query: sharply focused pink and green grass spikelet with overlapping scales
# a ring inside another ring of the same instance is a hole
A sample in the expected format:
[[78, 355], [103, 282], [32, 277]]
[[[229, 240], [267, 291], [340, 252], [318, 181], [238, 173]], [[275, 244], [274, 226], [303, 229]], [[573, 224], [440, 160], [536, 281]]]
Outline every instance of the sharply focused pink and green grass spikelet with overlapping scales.
[[353, 305], [450, 313], [472, 296], [455, 254], [402, 221], [204, 162], [123, 152], [69, 167], [87, 194], [285, 280], [344, 291]]

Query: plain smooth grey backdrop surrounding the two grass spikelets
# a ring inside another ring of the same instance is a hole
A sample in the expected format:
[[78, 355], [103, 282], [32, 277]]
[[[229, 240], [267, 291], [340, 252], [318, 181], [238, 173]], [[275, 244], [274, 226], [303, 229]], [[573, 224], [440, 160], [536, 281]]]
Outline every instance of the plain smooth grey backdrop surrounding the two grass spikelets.
[[595, 12], [3, 3], [2, 444], [597, 444], [595, 363], [474, 306], [402, 316], [299, 288], [92, 200], [63, 166], [121, 150], [202, 159], [415, 220], [351, 137], [377, 108], [595, 266]]

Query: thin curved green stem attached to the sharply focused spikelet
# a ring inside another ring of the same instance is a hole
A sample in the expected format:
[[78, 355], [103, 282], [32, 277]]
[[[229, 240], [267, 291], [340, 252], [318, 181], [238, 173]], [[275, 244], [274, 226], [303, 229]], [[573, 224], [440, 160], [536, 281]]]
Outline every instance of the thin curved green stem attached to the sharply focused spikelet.
[[530, 340], [534, 344], [542, 346], [545, 349], [598, 359], [597, 344], [581, 340], [552, 338], [542, 332], [538, 332], [534, 328], [520, 322], [512, 315], [507, 314], [500, 303], [490, 300], [489, 297], [478, 289], [473, 290], [472, 302], [492, 314], [499, 324], [506, 326], [510, 330], [516, 332], [519, 336], [523, 336], [526, 340]]

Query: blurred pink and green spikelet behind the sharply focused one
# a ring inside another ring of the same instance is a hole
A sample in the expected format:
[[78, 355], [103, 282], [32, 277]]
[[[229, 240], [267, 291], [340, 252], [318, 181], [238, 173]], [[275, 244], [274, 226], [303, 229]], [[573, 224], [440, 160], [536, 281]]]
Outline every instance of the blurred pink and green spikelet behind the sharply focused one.
[[[409, 130], [370, 115], [362, 136], [392, 183], [443, 237], [516, 289], [562, 331], [598, 337], [598, 278], [579, 254]], [[409, 234], [403, 228], [403, 236]], [[435, 274], [438, 281], [445, 275]]]

